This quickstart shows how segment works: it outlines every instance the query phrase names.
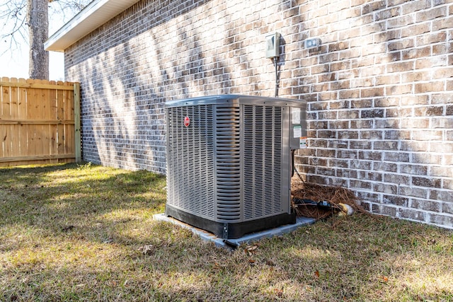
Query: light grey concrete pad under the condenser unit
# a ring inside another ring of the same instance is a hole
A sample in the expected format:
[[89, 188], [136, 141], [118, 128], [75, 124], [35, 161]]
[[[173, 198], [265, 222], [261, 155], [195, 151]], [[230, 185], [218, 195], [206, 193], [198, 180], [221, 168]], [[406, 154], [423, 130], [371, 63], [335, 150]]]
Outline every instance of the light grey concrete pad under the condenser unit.
[[300, 228], [301, 226], [308, 226], [316, 221], [315, 219], [312, 219], [312, 218], [297, 217], [296, 223], [294, 223], [294, 224], [285, 224], [283, 226], [278, 226], [277, 228], [270, 228], [265, 231], [246, 234], [245, 236], [243, 236], [241, 238], [228, 239], [226, 241], [222, 238], [214, 236], [214, 234], [212, 234], [212, 233], [204, 231], [200, 228], [195, 228], [195, 226], [190, 226], [189, 224], [184, 223], [183, 221], [174, 219], [172, 217], [167, 217], [164, 214], [155, 214], [154, 219], [156, 219], [158, 221], [168, 221], [170, 223], [176, 224], [177, 226], [181, 226], [183, 228], [188, 228], [190, 231], [195, 233], [197, 236], [200, 236], [200, 238], [202, 238], [202, 240], [212, 241], [215, 245], [217, 245], [219, 247], [224, 247], [224, 248], [234, 248], [235, 246], [239, 246], [243, 243], [251, 243], [253, 241], [260, 240], [261, 238], [280, 236], [285, 233], [290, 233], [292, 231], [295, 231], [297, 228]]

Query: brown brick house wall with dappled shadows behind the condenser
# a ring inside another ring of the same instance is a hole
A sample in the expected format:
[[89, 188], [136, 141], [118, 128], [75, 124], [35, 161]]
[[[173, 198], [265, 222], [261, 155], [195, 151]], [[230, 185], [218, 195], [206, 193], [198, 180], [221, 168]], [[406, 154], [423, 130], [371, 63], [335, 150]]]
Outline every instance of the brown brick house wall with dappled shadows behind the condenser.
[[164, 173], [163, 103], [273, 96], [263, 48], [278, 31], [279, 95], [309, 101], [300, 177], [453, 228], [452, 28], [447, 0], [140, 1], [65, 52], [84, 159]]

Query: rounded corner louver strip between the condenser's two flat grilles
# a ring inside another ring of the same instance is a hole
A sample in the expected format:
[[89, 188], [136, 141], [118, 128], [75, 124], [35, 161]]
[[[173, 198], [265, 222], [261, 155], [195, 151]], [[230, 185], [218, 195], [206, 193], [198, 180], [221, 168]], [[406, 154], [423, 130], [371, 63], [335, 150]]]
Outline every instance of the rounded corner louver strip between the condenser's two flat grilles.
[[239, 107], [216, 108], [217, 219], [241, 219], [241, 112]]

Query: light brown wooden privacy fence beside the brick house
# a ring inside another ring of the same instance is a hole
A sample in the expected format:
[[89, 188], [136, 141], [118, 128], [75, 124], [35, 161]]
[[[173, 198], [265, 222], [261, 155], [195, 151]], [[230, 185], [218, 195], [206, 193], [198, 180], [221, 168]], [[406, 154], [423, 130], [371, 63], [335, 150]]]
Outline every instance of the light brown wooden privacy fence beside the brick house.
[[1, 78], [0, 166], [81, 161], [80, 84]]

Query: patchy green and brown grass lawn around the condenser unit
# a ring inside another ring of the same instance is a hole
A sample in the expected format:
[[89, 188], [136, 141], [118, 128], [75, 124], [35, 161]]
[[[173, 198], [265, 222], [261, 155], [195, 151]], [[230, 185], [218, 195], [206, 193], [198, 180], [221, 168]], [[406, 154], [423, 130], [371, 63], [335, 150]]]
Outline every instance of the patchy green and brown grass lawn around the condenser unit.
[[453, 301], [453, 232], [365, 214], [234, 251], [164, 211], [165, 178], [0, 169], [0, 301]]

